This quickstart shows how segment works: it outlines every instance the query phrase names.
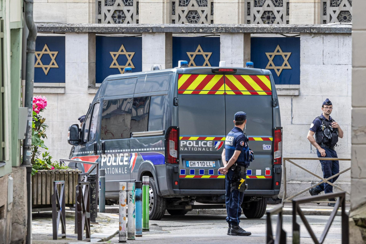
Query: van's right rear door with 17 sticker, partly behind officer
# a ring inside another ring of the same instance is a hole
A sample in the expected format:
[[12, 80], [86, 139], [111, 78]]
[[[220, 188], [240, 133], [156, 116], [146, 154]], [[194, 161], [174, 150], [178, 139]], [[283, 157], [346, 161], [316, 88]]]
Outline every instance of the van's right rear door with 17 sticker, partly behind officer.
[[234, 114], [247, 113], [245, 133], [255, 160], [247, 170], [249, 190], [272, 189], [273, 107], [268, 75], [225, 75], [227, 134], [234, 127]]

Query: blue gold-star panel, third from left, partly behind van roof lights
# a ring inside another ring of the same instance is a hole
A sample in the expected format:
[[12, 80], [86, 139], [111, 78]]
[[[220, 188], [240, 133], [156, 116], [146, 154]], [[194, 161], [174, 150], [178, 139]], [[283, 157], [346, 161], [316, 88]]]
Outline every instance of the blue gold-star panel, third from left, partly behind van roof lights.
[[179, 60], [188, 66], [219, 66], [219, 37], [173, 37], [173, 67]]

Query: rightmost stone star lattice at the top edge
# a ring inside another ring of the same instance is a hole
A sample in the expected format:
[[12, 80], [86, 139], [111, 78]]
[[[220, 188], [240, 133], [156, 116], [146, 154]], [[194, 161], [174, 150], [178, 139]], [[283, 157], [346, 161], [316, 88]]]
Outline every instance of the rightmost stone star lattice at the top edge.
[[322, 0], [321, 23], [351, 23], [352, 0]]

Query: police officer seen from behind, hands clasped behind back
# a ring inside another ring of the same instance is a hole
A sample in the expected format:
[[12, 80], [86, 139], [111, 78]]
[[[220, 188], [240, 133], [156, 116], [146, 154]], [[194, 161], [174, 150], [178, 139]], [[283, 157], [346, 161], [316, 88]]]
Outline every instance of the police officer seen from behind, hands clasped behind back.
[[[248, 140], [246, 135], [243, 133], [246, 123], [246, 113], [238, 112], [234, 115], [235, 127], [226, 136], [225, 148], [221, 154], [224, 167], [219, 168], [219, 171], [226, 175], [226, 221], [229, 225], [227, 234], [232, 236], [251, 235], [250, 232], [243, 230], [239, 226], [240, 216], [242, 214], [241, 205], [243, 202], [244, 192], [239, 191], [237, 185], [236, 187], [234, 186], [236, 183], [238, 183], [242, 171], [245, 171], [246, 174], [246, 168], [248, 166], [245, 159], [245, 149], [248, 149]], [[243, 177], [244, 179], [246, 178], [246, 176]]]

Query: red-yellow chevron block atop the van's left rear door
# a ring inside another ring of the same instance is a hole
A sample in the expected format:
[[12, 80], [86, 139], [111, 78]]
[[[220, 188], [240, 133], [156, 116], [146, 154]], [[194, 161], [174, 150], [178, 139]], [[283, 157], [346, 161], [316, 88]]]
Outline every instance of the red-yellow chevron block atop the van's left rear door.
[[179, 75], [178, 94], [224, 93], [224, 75]]

